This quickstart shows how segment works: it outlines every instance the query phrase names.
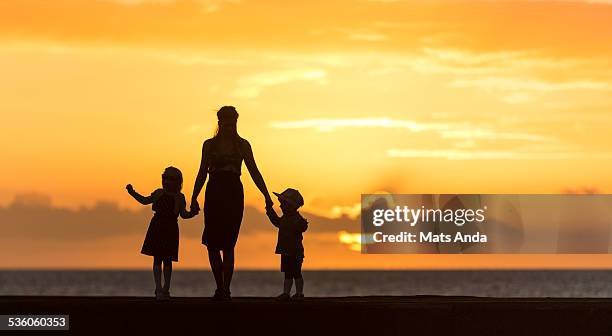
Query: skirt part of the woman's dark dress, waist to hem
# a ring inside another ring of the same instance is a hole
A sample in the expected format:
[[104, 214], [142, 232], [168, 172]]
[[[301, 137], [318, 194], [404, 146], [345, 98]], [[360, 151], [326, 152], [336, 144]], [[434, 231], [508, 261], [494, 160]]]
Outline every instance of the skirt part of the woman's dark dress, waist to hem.
[[209, 249], [233, 249], [238, 240], [244, 190], [240, 175], [233, 172], [213, 172], [204, 196], [204, 233], [202, 244]]

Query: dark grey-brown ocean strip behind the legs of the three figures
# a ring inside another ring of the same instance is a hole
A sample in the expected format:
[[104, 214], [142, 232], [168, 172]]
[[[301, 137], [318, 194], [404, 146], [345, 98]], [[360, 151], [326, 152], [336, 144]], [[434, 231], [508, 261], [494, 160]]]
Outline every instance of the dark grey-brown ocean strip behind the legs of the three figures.
[[[304, 271], [311, 297], [458, 295], [488, 297], [612, 297], [612, 271]], [[278, 271], [237, 271], [233, 296], [275, 296]], [[209, 297], [210, 271], [173, 273], [174, 296]], [[150, 271], [0, 271], [0, 295], [152, 296]]]

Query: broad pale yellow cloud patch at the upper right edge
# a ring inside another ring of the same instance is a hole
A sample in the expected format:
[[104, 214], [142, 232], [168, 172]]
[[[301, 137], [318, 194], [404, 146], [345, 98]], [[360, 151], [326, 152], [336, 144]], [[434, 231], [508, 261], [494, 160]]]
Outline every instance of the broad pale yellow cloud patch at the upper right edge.
[[[414, 71], [451, 75], [449, 86], [477, 89], [509, 104], [529, 102], [539, 95], [562, 91], [610, 91], [612, 72], [607, 58], [551, 58], [538, 50], [473, 52], [423, 48]], [[550, 73], [559, 79], [551, 79]], [[563, 74], [563, 76], [560, 76]]]

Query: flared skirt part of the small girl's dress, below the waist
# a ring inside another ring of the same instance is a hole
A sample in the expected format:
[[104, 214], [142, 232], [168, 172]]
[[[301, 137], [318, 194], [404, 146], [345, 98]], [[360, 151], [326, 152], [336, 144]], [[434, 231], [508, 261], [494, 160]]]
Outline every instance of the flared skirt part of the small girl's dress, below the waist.
[[179, 229], [177, 219], [154, 215], [140, 253], [178, 261]]

